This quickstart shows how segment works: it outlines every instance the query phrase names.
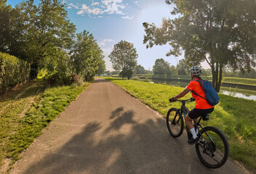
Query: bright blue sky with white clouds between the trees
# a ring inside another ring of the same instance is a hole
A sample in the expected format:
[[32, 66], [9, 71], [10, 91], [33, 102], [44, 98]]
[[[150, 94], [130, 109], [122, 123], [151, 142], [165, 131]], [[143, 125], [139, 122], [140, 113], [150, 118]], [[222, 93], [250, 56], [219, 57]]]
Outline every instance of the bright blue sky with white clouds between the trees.
[[[7, 0], [15, 7], [23, 0]], [[94, 36], [105, 56], [107, 70], [113, 70], [108, 55], [119, 41], [133, 43], [137, 50], [137, 65], [152, 70], [156, 59], [163, 58], [170, 65], [177, 65], [183, 57], [166, 57], [170, 46], [153, 46], [146, 49], [143, 44], [145, 31], [143, 22], [161, 25], [162, 18], [173, 18], [173, 6], [165, 0], [61, 0], [68, 11], [68, 19], [76, 25], [76, 33], [89, 31]], [[39, 4], [39, 0], [34, 1]]]

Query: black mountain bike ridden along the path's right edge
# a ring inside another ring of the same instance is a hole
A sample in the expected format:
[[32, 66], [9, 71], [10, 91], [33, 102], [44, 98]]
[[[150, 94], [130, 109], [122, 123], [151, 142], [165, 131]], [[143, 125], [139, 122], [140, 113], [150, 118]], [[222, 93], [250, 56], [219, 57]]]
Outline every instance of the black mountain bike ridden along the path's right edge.
[[[173, 137], [179, 137], [183, 134], [184, 126], [187, 130], [188, 139], [192, 137], [192, 133], [184, 124], [185, 115], [189, 109], [185, 107], [187, 101], [195, 101], [195, 99], [176, 100], [182, 103], [180, 109], [171, 108], [167, 112], [167, 128]], [[201, 115], [199, 121], [193, 120], [199, 143], [196, 144], [196, 154], [200, 161], [210, 168], [218, 168], [225, 164], [228, 159], [229, 145], [228, 140], [223, 132], [215, 127], [203, 127], [201, 120], [208, 121], [209, 115]]]

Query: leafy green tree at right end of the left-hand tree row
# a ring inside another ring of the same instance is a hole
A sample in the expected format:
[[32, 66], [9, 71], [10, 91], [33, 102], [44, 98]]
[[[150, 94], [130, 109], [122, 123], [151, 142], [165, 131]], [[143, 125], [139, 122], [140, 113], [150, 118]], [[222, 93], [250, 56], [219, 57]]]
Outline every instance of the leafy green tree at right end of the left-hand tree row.
[[73, 71], [84, 77], [84, 80], [92, 80], [100, 63], [103, 62], [103, 51], [97, 45], [92, 34], [84, 30], [76, 35], [71, 59], [74, 66]]

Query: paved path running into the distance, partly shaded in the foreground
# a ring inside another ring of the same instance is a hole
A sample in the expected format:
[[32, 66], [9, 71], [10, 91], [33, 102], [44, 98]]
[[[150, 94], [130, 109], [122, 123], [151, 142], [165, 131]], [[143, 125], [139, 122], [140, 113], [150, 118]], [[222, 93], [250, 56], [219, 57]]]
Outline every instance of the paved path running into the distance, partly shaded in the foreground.
[[23, 153], [11, 173], [245, 173], [204, 167], [186, 135], [118, 86], [97, 78]]

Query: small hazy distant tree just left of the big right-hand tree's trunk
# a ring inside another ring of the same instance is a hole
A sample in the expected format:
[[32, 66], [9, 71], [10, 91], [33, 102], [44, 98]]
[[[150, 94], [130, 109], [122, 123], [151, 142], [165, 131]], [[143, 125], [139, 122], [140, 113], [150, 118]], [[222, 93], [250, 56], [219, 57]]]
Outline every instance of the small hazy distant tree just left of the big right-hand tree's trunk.
[[153, 73], [155, 75], [169, 75], [169, 63], [165, 62], [163, 58], [156, 59], [155, 65], [153, 65]]

